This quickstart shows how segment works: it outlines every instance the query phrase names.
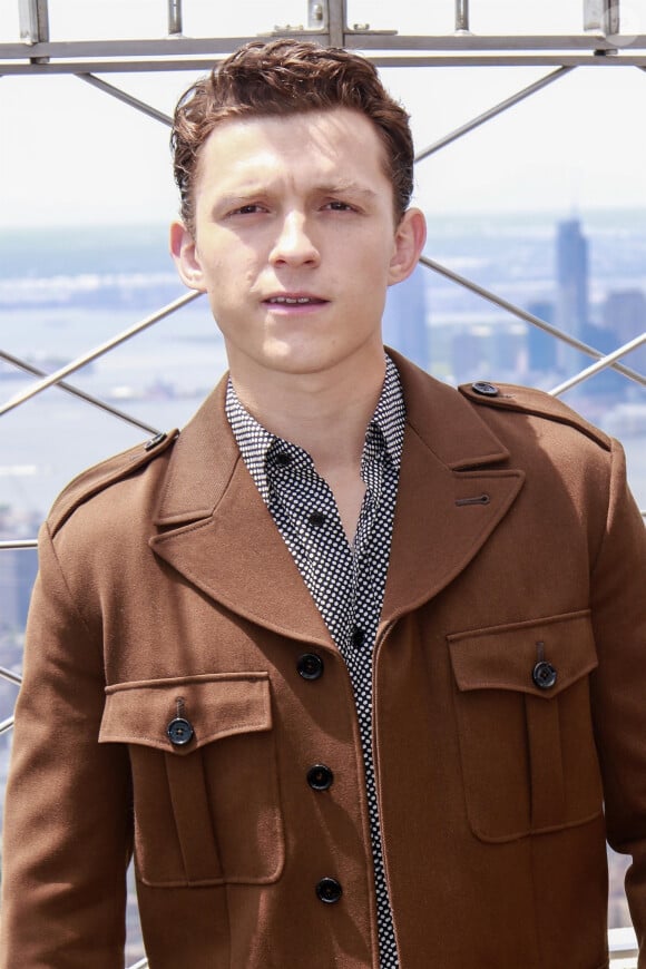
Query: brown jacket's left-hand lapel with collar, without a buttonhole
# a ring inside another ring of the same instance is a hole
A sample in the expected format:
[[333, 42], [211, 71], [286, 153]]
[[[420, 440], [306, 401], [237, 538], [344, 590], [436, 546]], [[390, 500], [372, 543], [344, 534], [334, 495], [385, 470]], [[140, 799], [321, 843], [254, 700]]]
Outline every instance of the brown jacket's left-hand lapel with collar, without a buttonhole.
[[226, 379], [179, 435], [150, 539], [226, 608], [285, 636], [332, 646], [327, 628], [239, 456]]

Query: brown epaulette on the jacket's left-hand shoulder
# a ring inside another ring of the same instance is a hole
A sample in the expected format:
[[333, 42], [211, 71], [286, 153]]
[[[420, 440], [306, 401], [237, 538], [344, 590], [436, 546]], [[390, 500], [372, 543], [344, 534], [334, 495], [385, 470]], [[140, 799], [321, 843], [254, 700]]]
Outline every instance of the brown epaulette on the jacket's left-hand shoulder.
[[148, 464], [173, 444], [178, 433], [179, 431], [174, 429], [168, 433], [155, 434], [149, 441], [136, 444], [81, 471], [61, 491], [51, 507], [48, 516], [51, 535], [58, 531], [79, 505]]

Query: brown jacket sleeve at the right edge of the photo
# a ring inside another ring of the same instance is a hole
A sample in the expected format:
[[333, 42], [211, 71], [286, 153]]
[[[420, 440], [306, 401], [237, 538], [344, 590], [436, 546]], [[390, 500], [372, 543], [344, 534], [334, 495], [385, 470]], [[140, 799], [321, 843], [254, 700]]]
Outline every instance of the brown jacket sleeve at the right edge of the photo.
[[591, 698], [607, 835], [616, 851], [633, 857], [626, 891], [639, 969], [646, 969], [646, 529], [616, 442], [591, 611], [599, 659]]

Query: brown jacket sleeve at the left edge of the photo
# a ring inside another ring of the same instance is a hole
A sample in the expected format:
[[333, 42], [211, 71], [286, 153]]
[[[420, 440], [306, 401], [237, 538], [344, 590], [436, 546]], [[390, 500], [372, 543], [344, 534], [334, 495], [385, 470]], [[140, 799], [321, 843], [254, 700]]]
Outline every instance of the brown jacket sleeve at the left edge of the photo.
[[1, 969], [123, 969], [127, 754], [99, 744], [100, 623], [72, 600], [43, 526], [3, 830]]

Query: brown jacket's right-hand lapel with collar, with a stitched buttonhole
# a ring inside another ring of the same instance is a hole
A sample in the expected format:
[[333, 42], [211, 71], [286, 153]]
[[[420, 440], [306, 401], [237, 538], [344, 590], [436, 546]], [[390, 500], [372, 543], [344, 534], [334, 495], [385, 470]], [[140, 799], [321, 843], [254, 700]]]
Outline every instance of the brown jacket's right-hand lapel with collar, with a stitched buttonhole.
[[471, 561], [505, 517], [525, 473], [452, 388], [397, 353], [407, 431], [382, 626], [420, 606]]

